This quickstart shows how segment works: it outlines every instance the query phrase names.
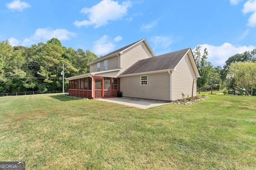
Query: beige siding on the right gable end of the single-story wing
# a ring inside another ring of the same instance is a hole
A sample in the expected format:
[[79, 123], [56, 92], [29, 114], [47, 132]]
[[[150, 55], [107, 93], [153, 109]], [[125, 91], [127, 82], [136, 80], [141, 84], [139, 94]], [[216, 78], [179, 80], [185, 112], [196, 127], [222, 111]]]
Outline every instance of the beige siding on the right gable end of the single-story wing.
[[181, 93], [187, 97], [192, 97], [192, 86], [194, 79], [193, 96], [196, 96], [196, 74], [192, 67], [190, 58], [186, 62], [186, 57], [182, 59], [176, 70], [172, 72], [172, 100], [182, 99]]

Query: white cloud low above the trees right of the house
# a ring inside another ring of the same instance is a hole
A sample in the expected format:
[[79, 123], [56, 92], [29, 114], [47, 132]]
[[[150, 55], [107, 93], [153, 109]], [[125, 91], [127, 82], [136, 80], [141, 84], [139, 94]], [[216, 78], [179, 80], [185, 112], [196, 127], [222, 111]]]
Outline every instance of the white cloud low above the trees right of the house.
[[[224, 43], [221, 46], [214, 46], [214, 45], [208, 45], [208, 44], [203, 44], [201, 46], [201, 54], [204, 53], [204, 49], [207, 48], [208, 51], [208, 59], [207, 61], [210, 61], [212, 65], [215, 66], [223, 66], [225, 65], [225, 61], [238, 53], [244, 53], [245, 51], [252, 51], [253, 49], [256, 48], [256, 46], [249, 45], [247, 46], [235, 46], [230, 43]], [[194, 51], [193, 49], [192, 51]]]

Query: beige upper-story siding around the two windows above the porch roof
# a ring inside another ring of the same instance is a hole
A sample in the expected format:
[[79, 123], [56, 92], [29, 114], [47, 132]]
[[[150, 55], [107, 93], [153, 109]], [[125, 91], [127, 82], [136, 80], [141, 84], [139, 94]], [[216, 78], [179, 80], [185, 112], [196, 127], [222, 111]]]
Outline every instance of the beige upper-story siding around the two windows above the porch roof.
[[[118, 62], [119, 62], [119, 57], [114, 56], [111, 57], [108, 60], [108, 70], [113, 70], [118, 68]], [[104, 71], [104, 61], [100, 61], [100, 71]], [[90, 72], [97, 72], [97, 63], [90, 65]]]

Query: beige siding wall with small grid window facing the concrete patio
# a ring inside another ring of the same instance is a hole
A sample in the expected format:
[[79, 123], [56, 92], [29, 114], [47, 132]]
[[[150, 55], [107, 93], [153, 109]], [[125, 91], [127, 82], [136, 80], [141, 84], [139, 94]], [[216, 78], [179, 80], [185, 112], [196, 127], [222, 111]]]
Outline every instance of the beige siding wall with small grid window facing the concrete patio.
[[[140, 76], [148, 76], [148, 85], [140, 85]], [[120, 78], [120, 91], [124, 97], [170, 100], [170, 74], [143, 74]]]

